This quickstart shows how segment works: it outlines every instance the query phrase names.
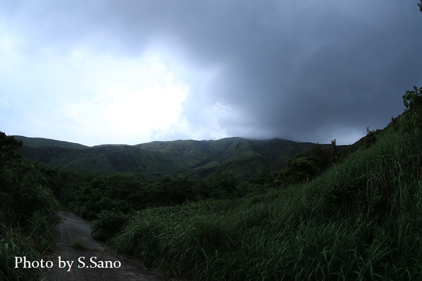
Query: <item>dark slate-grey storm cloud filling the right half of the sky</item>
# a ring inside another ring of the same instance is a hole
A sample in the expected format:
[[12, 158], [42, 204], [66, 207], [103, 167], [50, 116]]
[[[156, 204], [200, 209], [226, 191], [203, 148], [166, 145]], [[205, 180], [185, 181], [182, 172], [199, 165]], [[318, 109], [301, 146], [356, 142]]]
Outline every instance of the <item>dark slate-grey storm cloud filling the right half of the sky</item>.
[[383, 128], [401, 113], [402, 93], [421, 82], [422, 16], [403, 3], [379, 4], [356, 3], [357, 16], [370, 18], [325, 7], [291, 19], [291, 29], [245, 30], [237, 45], [244, 47], [220, 81], [225, 89], [212, 92], [248, 119], [245, 132], [255, 137], [253, 128], [260, 128], [267, 137], [315, 141], [319, 135], [329, 142], [341, 139], [340, 128], [362, 134], [366, 126]]

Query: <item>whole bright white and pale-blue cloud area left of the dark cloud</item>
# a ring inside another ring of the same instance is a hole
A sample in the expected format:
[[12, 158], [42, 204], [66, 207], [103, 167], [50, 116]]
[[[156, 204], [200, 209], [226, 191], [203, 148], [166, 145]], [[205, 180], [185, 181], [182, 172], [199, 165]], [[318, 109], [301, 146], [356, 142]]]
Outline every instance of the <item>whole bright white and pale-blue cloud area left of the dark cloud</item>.
[[[6, 116], [6, 133], [89, 146], [229, 136], [222, 123], [234, 116], [233, 109], [223, 102], [201, 104], [201, 93], [220, 67], [187, 74], [157, 46], [138, 56], [98, 52], [87, 45], [67, 53], [42, 47], [34, 55], [25, 46], [22, 38], [0, 36], [0, 58], [12, 58], [0, 66], [0, 108], [13, 108]], [[185, 104], [192, 83], [196, 95]], [[193, 112], [200, 124], [191, 123]]]

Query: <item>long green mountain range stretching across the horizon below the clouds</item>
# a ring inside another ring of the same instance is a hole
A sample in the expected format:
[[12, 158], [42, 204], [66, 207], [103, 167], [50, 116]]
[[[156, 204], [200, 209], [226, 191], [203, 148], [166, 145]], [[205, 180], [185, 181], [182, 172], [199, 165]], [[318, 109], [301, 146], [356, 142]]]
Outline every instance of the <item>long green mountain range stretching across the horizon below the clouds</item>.
[[[288, 158], [308, 151], [313, 143], [274, 138], [254, 140], [228, 137], [218, 140], [173, 140], [134, 146], [87, 147], [47, 138], [15, 136], [23, 141], [22, 155], [41, 163], [102, 173], [128, 172], [144, 176], [188, 174], [207, 177], [232, 170], [248, 177], [265, 165], [280, 169]], [[322, 145], [331, 148], [331, 145]]]

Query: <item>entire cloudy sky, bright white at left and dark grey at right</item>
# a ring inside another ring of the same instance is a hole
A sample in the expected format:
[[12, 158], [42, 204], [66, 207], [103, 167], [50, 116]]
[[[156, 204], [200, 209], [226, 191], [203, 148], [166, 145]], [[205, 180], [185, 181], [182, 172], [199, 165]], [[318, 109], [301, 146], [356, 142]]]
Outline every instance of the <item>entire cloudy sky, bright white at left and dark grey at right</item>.
[[415, 0], [0, 0], [0, 131], [355, 143], [422, 87]]

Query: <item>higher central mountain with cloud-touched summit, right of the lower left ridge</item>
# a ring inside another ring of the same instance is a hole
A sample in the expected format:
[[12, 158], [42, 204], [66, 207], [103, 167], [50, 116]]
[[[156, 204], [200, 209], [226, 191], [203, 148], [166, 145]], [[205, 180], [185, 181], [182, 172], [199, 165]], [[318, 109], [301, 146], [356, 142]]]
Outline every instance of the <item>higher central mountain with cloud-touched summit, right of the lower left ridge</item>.
[[[180, 166], [191, 175], [206, 177], [221, 170], [233, 170], [233, 174], [246, 178], [265, 164], [269, 164], [272, 169], [280, 169], [288, 158], [306, 152], [313, 145], [277, 138], [252, 140], [228, 137], [218, 140], [151, 142], [137, 147], [177, 157]], [[331, 148], [331, 145], [324, 146]]]

